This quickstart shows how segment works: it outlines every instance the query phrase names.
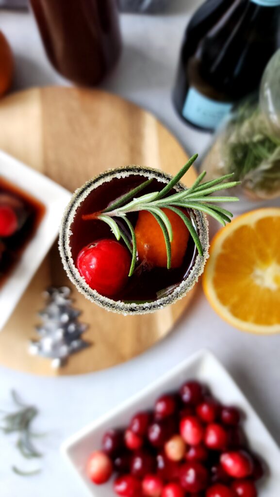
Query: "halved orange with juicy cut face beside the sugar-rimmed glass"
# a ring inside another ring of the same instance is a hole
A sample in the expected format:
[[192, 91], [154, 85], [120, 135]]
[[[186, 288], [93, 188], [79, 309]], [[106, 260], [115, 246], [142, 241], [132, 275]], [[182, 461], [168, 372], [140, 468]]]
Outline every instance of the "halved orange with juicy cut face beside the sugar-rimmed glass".
[[202, 284], [220, 317], [242, 331], [280, 333], [280, 209], [237, 217], [209, 253]]

